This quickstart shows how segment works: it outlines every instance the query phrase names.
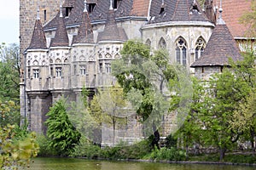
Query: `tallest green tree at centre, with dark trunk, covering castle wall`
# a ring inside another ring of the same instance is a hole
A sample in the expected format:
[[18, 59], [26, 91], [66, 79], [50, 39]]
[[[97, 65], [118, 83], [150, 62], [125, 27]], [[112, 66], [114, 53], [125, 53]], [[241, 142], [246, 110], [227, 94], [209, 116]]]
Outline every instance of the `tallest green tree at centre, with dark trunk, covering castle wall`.
[[122, 57], [112, 63], [113, 76], [124, 88], [125, 95], [130, 96], [142, 122], [145, 123], [149, 116], [154, 117], [147, 123], [151, 134], [154, 134], [152, 145], [158, 145], [160, 133], [157, 124], [160, 124], [164, 111], [168, 110], [161, 95], [168, 79], [175, 77], [169, 65], [169, 55], [164, 49], [151, 55], [150, 48], [137, 40], [125, 42], [121, 54]]

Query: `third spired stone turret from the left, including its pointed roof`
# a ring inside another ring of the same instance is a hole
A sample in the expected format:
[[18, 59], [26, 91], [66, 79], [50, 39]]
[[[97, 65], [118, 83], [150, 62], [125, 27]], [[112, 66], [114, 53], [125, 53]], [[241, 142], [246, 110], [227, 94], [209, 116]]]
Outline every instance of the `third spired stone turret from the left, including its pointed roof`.
[[84, 11], [79, 26], [78, 35], [73, 38], [72, 60], [72, 86], [76, 94], [80, 94], [82, 88], [94, 90], [96, 84], [96, 44], [90, 17], [87, 10], [87, 2], [84, 0]]

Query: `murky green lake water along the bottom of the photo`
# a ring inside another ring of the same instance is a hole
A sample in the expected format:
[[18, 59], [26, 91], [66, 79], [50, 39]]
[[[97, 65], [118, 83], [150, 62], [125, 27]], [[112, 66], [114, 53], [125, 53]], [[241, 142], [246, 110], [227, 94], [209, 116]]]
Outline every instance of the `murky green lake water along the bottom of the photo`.
[[169, 164], [134, 161], [90, 161], [75, 158], [35, 158], [32, 170], [253, 170], [256, 167], [201, 165], [201, 164]]

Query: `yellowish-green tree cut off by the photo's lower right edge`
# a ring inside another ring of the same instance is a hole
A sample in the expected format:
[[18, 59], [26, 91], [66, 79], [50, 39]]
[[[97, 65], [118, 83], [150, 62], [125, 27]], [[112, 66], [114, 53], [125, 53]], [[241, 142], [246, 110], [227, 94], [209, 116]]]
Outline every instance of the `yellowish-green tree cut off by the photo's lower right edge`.
[[241, 101], [237, 102], [238, 109], [232, 117], [231, 128], [243, 133], [244, 139], [251, 141], [252, 150], [255, 151], [254, 139], [256, 135], [255, 113], [253, 108], [253, 99], [256, 88], [256, 56], [253, 52], [247, 52], [244, 58], [238, 62], [231, 62], [232, 71], [236, 79], [243, 82], [244, 88], [239, 88], [243, 94]]

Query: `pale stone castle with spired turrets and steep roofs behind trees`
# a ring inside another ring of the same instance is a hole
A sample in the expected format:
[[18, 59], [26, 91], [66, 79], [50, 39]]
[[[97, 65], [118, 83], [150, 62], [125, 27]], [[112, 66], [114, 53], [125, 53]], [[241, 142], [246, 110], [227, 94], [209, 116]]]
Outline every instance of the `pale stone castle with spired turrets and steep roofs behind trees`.
[[[234, 37], [240, 42], [246, 38], [242, 29], [237, 35], [236, 29], [230, 32], [222, 18], [216, 22], [216, 4], [206, 0], [201, 8], [196, 0], [20, 1], [21, 116], [32, 131], [44, 133], [45, 114], [56, 99], [68, 95], [79, 101], [83, 87], [93, 94], [112, 85], [111, 61], [119, 58], [129, 39], [141, 39], [152, 51], [166, 48], [170, 62], [186, 66], [197, 77], [221, 71], [228, 56], [241, 59]], [[230, 0], [224, 8], [227, 4]]]

